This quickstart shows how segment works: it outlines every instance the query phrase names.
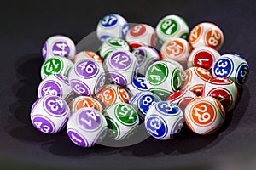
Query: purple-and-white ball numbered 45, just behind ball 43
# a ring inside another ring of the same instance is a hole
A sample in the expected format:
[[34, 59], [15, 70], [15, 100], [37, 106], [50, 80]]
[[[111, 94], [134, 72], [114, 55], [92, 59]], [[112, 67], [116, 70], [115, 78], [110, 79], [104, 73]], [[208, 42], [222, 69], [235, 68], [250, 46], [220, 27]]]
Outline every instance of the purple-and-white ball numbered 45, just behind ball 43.
[[67, 77], [61, 74], [53, 74], [45, 77], [38, 86], [38, 98], [45, 95], [55, 95], [65, 99], [68, 103], [68, 98], [72, 94], [73, 89], [69, 86]]

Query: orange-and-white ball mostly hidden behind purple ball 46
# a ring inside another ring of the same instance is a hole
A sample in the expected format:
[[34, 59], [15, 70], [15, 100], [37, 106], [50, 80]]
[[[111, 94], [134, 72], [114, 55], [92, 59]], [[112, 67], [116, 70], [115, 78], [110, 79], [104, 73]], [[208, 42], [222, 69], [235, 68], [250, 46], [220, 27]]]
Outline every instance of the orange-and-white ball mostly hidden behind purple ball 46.
[[101, 57], [92, 51], [82, 51], [73, 57], [74, 63], [77, 63], [79, 60], [82, 59], [92, 59], [96, 61], [96, 63], [98, 63], [99, 65], [102, 65]]

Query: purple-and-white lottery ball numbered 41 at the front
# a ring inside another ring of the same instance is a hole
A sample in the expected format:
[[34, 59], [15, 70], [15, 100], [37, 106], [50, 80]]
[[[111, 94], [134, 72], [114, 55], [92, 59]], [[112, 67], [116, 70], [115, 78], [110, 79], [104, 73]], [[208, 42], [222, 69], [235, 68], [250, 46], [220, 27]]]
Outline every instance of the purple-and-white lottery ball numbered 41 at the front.
[[81, 108], [67, 122], [69, 139], [80, 147], [92, 147], [106, 136], [108, 124], [100, 111]]

